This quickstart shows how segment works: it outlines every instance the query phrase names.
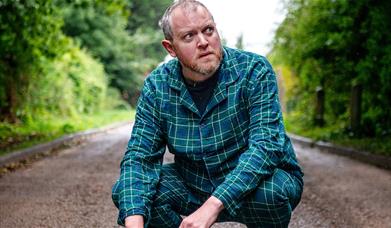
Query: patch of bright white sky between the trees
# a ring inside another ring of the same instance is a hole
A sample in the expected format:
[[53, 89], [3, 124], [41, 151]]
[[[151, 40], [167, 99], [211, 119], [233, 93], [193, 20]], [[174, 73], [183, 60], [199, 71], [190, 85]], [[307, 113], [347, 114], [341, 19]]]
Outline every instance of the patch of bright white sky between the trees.
[[281, 0], [200, 0], [211, 11], [220, 35], [234, 47], [242, 33], [244, 49], [266, 55], [284, 19]]

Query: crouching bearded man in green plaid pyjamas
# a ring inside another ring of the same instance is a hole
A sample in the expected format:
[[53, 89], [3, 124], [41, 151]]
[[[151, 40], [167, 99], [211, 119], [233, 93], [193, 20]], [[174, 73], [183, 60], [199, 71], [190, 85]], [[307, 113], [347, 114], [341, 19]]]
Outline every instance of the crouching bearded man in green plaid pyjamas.
[[[118, 223], [287, 227], [303, 174], [270, 64], [223, 48], [212, 15], [197, 1], [173, 3], [161, 27], [162, 44], [176, 58], [145, 80], [113, 186]], [[162, 165], [166, 146], [175, 163]]]

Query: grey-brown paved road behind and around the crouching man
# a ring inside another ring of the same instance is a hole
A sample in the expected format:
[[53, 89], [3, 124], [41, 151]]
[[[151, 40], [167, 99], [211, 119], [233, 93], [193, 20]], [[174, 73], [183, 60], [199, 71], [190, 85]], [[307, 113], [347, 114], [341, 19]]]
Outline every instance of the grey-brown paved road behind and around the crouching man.
[[[129, 131], [98, 134], [3, 175], [0, 227], [116, 227], [110, 190]], [[295, 147], [306, 176], [290, 227], [391, 227], [390, 171]], [[244, 226], [214, 226], [224, 227]]]

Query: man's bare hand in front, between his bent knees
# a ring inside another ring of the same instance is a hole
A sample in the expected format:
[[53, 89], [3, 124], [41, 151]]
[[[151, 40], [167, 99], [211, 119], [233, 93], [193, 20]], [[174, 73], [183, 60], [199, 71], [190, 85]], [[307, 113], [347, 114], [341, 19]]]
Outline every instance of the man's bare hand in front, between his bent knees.
[[183, 219], [179, 228], [209, 228], [223, 209], [223, 203], [211, 196], [198, 210]]

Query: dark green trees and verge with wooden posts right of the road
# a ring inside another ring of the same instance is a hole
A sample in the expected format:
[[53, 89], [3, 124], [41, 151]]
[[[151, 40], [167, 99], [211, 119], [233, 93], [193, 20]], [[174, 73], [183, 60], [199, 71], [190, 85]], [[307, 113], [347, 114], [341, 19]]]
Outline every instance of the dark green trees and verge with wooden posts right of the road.
[[391, 1], [286, 0], [268, 57], [290, 132], [391, 155]]

